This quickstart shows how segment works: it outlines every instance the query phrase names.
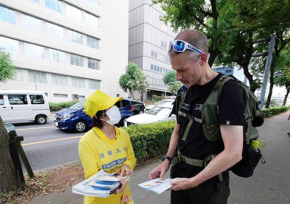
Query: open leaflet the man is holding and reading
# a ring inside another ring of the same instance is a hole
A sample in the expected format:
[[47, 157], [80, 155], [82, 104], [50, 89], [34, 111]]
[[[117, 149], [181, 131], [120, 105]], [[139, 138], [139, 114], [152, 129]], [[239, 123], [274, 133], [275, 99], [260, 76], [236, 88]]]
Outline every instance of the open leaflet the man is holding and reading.
[[155, 178], [153, 180], [144, 182], [144, 183], [140, 183], [138, 184], [138, 186], [145, 188], [146, 190], [151, 190], [154, 191], [158, 194], [163, 193], [164, 191], [166, 191], [167, 189], [169, 189], [170, 187], [172, 187], [172, 185], [170, 184], [169, 181], [173, 181], [173, 180], [177, 180], [180, 178], [163, 178], [163, 180], [160, 180], [160, 178]]

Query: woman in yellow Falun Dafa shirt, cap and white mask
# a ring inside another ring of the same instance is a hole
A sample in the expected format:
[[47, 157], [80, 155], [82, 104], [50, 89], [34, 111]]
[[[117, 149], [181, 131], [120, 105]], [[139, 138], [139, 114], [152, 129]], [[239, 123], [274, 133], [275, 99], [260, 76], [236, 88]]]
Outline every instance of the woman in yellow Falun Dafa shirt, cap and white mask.
[[[122, 99], [123, 97], [111, 98], [100, 90], [96, 90], [86, 99], [85, 111], [93, 118], [93, 128], [79, 141], [79, 157], [84, 167], [85, 179], [101, 169], [107, 173], [120, 172], [128, 175], [136, 167], [128, 133], [114, 126], [121, 119], [119, 109], [114, 104]], [[121, 179], [120, 183], [122, 186], [109, 197], [85, 196], [84, 204], [117, 204], [125, 186], [128, 196], [131, 196], [126, 181]]]

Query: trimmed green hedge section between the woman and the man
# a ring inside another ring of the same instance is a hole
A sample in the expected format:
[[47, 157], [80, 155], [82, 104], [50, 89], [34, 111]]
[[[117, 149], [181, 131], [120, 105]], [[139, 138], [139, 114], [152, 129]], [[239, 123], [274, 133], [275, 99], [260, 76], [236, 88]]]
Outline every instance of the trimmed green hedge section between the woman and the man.
[[175, 121], [139, 124], [121, 127], [130, 135], [135, 157], [138, 159], [154, 156], [167, 148]]

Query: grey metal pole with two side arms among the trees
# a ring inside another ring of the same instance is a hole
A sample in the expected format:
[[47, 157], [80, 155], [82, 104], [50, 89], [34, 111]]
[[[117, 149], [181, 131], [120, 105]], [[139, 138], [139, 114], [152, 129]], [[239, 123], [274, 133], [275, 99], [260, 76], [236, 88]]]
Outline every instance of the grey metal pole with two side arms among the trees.
[[264, 78], [263, 78], [263, 85], [262, 85], [262, 88], [261, 88], [261, 94], [260, 94], [260, 100], [259, 100], [261, 102], [259, 104], [260, 110], [263, 109], [264, 98], [265, 98], [265, 93], [266, 93], [266, 88], [267, 88], [267, 83], [268, 83], [268, 78], [269, 78], [269, 72], [270, 72], [272, 57], [273, 57], [273, 54], [274, 54], [273, 51], [274, 51], [274, 46], [275, 46], [275, 40], [276, 39], [277, 39], [277, 35], [271, 35], [271, 37], [268, 37], [266, 39], [260, 39], [260, 40], [254, 41], [255, 43], [259, 43], [259, 42], [264, 42], [264, 41], [269, 42], [269, 40], [270, 40], [268, 52], [258, 53], [258, 54], [253, 54], [252, 55], [252, 57], [267, 56], [265, 72], [264, 72]]

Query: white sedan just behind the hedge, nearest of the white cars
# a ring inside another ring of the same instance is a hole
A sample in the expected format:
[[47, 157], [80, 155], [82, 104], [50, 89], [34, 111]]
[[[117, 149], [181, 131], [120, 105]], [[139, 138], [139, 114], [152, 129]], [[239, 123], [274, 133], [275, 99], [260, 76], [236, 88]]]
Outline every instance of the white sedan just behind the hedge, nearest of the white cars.
[[146, 124], [158, 121], [175, 120], [176, 115], [171, 114], [172, 108], [173, 105], [157, 105], [144, 114], [129, 117], [125, 122], [125, 127], [134, 124]]

